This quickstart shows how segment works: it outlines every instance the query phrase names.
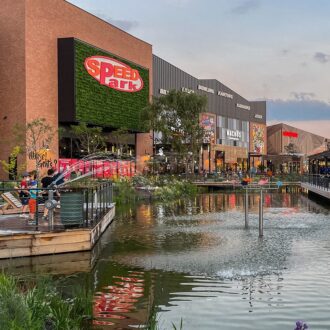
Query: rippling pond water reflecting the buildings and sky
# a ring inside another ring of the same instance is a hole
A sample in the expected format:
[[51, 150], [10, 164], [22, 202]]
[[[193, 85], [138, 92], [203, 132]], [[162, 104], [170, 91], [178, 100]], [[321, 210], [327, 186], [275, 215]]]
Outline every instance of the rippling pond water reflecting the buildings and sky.
[[284, 330], [303, 319], [329, 330], [330, 206], [265, 194], [260, 239], [259, 197], [250, 196], [248, 230], [243, 197], [118, 208], [93, 268], [68, 278], [92, 286], [96, 328], [136, 328], [153, 306], [161, 329], [182, 319], [189, 330]]

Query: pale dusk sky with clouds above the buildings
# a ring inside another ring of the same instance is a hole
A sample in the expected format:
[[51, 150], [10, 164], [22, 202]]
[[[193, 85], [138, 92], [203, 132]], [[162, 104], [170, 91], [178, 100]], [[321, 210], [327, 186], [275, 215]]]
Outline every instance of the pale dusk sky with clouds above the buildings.
[[329, 0], [70, 0], [197, 78], [330, 138]]

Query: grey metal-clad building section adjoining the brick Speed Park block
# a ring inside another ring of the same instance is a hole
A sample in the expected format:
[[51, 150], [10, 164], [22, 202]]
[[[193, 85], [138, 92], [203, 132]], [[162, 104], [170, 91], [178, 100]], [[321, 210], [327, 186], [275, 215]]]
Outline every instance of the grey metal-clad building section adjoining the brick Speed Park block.
[[170, 90], [206, 95], [201, 125], [207, 139], [200, 169], [206, 172], [257, 167], [267, 154], [266, 102], [250, 102], [216, 79], [198, 79], [153, 56], [153, 95]]

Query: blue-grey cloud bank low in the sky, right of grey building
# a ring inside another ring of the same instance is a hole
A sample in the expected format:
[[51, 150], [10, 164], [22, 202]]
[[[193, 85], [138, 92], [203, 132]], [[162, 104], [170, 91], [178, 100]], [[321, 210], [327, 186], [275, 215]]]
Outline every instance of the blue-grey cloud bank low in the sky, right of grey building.
[[267, 100], [267, 120], [330, 120], [330, 103], [311, 99], [311, 96], [314, 94], [296, 93], [296, 98], [291, 100]]

